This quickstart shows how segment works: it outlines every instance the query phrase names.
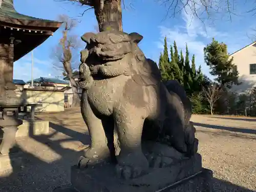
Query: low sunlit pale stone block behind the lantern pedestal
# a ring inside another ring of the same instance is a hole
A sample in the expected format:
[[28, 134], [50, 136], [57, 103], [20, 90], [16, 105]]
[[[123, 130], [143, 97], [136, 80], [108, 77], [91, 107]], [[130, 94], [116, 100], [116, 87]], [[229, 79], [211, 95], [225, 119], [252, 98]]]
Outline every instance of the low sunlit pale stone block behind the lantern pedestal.
[[42, 135], [49, 133], [49, 121], [43, 120], [22, 120], [23, 124], [18, 126], [16, 137]]

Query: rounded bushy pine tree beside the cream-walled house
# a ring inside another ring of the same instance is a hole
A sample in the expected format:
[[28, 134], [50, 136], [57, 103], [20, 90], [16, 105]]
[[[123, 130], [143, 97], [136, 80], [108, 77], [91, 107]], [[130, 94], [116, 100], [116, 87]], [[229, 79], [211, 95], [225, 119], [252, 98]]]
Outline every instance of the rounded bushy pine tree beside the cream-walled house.
[[238, 82], [238, 71], [233, 70], [233, 58], [229, 58], [227, 45], [212, 38], [212, 42], [204, 48], [204, 60], [210, 67], [210, 74], [216, 76], [216, 81], [230, 88]]

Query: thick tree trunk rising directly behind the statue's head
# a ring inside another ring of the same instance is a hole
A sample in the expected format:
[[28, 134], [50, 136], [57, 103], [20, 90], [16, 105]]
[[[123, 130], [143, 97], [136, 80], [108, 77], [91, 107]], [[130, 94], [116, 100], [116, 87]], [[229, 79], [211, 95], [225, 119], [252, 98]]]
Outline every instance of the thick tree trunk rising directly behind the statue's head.
[[123, 31], [121, 0], [94, 1], [93, 7], [100, 32]]

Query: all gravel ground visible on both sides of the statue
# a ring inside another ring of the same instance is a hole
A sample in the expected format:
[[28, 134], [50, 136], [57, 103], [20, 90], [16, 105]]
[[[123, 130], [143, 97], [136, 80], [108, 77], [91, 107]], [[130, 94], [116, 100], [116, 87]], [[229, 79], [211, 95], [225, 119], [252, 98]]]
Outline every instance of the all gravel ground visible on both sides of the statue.
[[[37, 117], [50, 121], [50, 134], [17, 139], [23, 161], [0, 172], [1, 192], [45, 192], [70, 184], [70, 166], [90, 140], [80, 110]], [[256, 119], [194, 115], [191, 120], [216, 191], [256, 191]]]

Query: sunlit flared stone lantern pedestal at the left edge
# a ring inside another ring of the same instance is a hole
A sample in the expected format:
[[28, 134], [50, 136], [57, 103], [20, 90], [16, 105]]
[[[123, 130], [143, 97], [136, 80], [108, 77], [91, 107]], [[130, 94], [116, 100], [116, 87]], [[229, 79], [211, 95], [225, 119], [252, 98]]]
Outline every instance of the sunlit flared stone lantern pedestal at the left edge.
[[15, 136], [18, 126], [22, 120], [18, 119], [18, 106], [0, 106], [0, 129], [3, 132], [3, 139], [0, 144], [0, 153], [9, 154], [15, 145]]

